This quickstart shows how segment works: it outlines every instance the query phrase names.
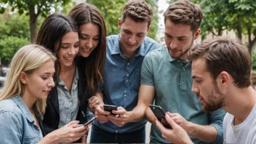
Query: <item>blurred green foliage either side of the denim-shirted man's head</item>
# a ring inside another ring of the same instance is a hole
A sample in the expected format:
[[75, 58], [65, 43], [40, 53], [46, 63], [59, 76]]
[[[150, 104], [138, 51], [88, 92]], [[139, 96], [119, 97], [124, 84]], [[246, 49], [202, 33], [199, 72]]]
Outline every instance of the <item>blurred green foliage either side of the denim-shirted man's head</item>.
[[[148, 36], [152, 39], [156, 39], [156, 32], [158, 30], [158, 0], [146, 0], [148, 4], [151, 5], [153, 9], [153, 20], [151, 22], [151, 31], [148, 33]], [[89, 4], [94, 4], [95, 7], [100, 9], [101, 14], [105, 18], [105, 25], [107, 28], [108, 36], [119, 33], [118, 20], [121, 17], [121, 12], [124, 5], [127, 3], [127, 0], [104, 0], [104, 1], [95, 1], [87, 0]]]

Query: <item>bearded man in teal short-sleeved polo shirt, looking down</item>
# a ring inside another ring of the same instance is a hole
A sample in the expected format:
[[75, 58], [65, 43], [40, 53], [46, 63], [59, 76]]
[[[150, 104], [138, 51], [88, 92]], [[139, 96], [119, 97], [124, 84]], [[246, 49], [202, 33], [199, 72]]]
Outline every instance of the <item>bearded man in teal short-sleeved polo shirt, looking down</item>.
[[191, 62], [186, 55], [199, 37], [202, 17], [199, 5], [188, 0], [171, 4], [164, 12], [167, 46], [149, 52], [143, 60], [139, 100], [133, 111], [152, 123], [151, 143], [167, 143], [148, 107], [153, 99], [164, 112], [171, 112], [172, 119], [185, 129], [193, 143], [223, 143], [225, 111], [205, 113], [191, 92]]

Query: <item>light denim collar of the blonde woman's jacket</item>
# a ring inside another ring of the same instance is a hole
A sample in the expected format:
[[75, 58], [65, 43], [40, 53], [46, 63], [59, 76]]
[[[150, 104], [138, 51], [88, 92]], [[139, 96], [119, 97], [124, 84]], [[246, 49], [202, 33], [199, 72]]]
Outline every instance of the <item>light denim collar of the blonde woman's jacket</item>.
[[12, 100], [15, 101], [15, 103], [17, 104], [17, 106], [20, 108], [20, 110], [23, 112], [23, 114], [25, 115], [25, 117], [28, 119], [28, 121], [32, 122], [35, 121], [33, 119], [33, 116], [31, 114], [31, 111], [29, 111], [28, 106], [25, 105], [24, 100], [20, 97], [12, 97]]

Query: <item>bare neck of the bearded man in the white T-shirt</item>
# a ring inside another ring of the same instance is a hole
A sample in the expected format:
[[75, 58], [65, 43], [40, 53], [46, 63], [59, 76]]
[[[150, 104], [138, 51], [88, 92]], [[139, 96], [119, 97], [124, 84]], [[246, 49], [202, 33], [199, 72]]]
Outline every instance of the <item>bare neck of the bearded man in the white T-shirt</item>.
[[[234, 86], [233, 86], [234, 87]], [[247, 87], [244, 89], [233, 88], [228, 90], [227, 103], [223, 107], [223, 110], [231, 113], [235, 119], [236, 124], [241, 124], [256, 103], [256, 91], [252, 87]]]

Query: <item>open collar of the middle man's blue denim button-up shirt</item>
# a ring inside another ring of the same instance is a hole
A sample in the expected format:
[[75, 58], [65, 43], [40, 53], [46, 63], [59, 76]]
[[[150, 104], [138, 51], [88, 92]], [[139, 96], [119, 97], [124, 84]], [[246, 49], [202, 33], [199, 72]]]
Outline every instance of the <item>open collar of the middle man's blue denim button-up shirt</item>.
[[[120, 33], [119, 33], [119, 35], [117, 35], [117, 38], [118, 39], [114, 39], [114, 41], [113, 41], [113, 49], [111, 51], [111, 55], [121, 54], [121, 47], [119, 44]], [[145, 37], [145, 39], [146, 39], [146, 37]], [[138, 56], [138, 55], [145, 56], [146, 55], [145, 44], [144, 44], [145, 39], [144, 39], [143, 43], [140, 44], [139, 51], [135, 54], [135, 56]]]

